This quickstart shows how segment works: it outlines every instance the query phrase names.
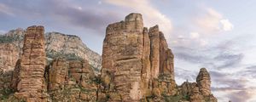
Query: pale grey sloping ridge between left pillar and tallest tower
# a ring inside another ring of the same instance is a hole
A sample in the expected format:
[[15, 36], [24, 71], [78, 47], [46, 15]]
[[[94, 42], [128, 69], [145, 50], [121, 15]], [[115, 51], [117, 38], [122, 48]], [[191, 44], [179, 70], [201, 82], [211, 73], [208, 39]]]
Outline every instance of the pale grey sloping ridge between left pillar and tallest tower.
[[55, 58], [60, 54], [78, 56], [81, 59], [88, 60], [96, 74], [99, 74], [102, 68], [101, 55], [88, 48], [79, 37], [64, 35], [59, 32], [49, 32], [45, 35], [45, 41], [48, 57]]

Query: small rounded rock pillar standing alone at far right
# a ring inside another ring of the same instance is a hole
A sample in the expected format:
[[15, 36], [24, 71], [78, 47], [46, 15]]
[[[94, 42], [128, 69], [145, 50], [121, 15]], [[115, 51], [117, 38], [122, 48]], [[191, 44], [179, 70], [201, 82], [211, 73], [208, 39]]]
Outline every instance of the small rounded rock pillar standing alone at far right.
[[211, 94], [211, 77], [206, 68], [200, 69], [196, 82], [202, 95], [208, 96]]

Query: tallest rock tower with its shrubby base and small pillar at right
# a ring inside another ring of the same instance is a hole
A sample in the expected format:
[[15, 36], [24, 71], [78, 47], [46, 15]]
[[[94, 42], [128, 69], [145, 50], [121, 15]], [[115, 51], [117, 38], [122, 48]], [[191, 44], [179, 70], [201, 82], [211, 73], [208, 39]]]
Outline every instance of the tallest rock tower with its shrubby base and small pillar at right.
[[164, 34], [158, 26], [143, 27], [141, 14], [129, 14], [124, 21], [108, 25], [99, 100], [217, 101], [206, 69], [201, 69], [196, 82], [177, 86], [173, 59]]

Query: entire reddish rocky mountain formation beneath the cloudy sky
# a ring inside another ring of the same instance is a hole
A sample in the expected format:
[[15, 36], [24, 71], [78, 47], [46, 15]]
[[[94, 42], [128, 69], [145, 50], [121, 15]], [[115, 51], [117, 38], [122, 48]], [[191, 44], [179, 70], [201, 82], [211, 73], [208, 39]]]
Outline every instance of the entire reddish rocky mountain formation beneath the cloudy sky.
[[142, 14], [108, 25], [102, 57], [79, 37], [44, 34], [44, 26], [0, 38], [2, 101], [218, 101], [206, 68], [195, 82], [176, 84], [175, 55], [158, 26], [143, 26]]

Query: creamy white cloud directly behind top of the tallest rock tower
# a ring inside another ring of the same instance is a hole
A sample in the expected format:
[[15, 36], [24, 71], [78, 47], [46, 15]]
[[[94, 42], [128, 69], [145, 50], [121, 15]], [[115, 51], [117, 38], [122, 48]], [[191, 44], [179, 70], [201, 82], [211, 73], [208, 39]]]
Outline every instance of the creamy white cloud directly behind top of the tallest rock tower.
[[116, 6], [131, 8], [133, 12], [143, 14], [144, 26], [159, 25], [160, 31], [163, 31], [166, 39], [170, 37], [172, 32], [172, 21], [166, 18], [165, 14], [161, 14], [157, 8], [154, 8], [148, 0], [106, 0]]

